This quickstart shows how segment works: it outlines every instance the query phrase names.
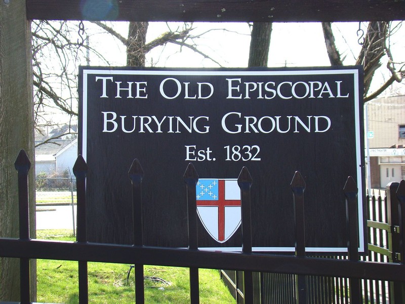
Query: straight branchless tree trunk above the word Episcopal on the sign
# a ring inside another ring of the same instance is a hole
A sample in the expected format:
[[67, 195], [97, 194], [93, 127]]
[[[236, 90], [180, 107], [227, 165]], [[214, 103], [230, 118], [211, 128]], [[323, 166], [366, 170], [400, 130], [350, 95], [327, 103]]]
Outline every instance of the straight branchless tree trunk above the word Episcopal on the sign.
[[272, 23], [253, 23], [248, 66], [267, 66]]

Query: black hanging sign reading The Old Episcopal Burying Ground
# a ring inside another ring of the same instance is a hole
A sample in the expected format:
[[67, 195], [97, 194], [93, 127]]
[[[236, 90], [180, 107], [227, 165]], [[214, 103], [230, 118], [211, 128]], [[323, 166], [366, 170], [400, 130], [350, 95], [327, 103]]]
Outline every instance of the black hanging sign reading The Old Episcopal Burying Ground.
[[[131, 244], [127, 172], [137, 158], [145, 171], [145, 245], [188, 246], [183, 174], [191, 162], [200, 177], [201, 248], [240, 250], [235, 179], [247, 166], [254, 251], [294, 251], [297, 170], [306, 182], [307, 250], [347, 250], [343, 187], [350, 175], [360, 194], [364, 188], [361, 67], [81, 67], [79, 84], [89, 240]], [[359, 195], [360, 251], [364, 204]]]

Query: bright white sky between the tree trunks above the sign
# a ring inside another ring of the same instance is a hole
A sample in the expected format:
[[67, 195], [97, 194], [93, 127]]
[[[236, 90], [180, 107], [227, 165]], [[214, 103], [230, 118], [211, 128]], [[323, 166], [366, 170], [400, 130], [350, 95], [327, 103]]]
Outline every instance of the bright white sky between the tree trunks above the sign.
[[[111, 23], [108, 23], [111, 24]], [[147, 42], [152, 41], [161, 33], [171, 29], [181, 28], [181, 22], [150, 22], [147, 32]], [[246, 67], [249, 58], [250, 26], [248, 23], [193, 23], [194, 35], [204, 33], [194, 41], [198, 49], [218, 63], [196, 54], [188, 48], [167, 44], [157, 47], [147, 54], [147, 66], [158, 67]], [[367, 30], [367, 23], [360, 23], [362, 30]], [[110, 34], [99, 34], [101, 30], [96, 25], [85, 22], [85, 28], [90, 33], [90, 45], [102, 52], [111, 66], [124, 66], [126, 52], [123, 44], [113, 39]], [[361, 50], [358, 44], [358, 22], [333, 23], [341, 58], [345, 65], [355, 64], [356, 57]], [[114, 29], [124, 37], [128, 35], [127, 22], [115, 22]], [[405, 62], [405, 36], [404, 28], [400, 29], [391, 41], [393, 57], [398, 62]], [[386, 71], [386, 58], [382, 62], [382, 70]], [[83, 65], [86, 60], [83, 58]], [[95, 55], [90, 55], [90, 65], [106, 65]], [[273, 23], [269, 67], [305, 67], [305, 66], [330, 66], [326, 51], [325, 41], [320, 23]], [[377, 71], [373, 88], [379, 87], [389, 77]], [[405, 94], [403, 84], [396, 85], [397, 90]], [[389, 92], [389, 91], [388, 91]]]

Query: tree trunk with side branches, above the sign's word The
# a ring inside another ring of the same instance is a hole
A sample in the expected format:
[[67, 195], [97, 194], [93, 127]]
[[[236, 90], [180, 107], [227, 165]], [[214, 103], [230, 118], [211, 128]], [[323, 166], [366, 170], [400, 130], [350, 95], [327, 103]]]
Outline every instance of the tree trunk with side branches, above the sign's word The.
[[148, 22], [130, 22], [127, 46], [128, 66], [145, 66], [145, 42], [148, 25]]

